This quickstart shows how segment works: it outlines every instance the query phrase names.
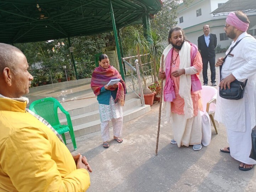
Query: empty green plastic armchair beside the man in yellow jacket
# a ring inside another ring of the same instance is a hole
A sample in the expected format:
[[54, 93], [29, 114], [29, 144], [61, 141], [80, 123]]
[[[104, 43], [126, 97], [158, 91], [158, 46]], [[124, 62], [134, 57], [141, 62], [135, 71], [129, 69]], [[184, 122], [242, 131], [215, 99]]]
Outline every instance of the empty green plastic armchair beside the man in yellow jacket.
[[[58, 117], [58, 107], [66, 115], [68, 125], [61, 125]], [[59, 134], [66, 145], [65, 133], [69, 132], [74, 149], [76, 150], [75, 134], [69, 112], [64, 110], [59, 101], [53, 97], [42, 98], [30, 104], [31, 111], [43, 117]]]

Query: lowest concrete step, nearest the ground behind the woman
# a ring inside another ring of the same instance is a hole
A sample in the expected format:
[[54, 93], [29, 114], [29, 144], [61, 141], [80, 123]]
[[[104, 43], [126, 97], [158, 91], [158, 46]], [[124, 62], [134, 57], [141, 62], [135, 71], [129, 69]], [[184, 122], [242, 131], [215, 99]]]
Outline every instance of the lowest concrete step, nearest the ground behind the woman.
[[[145, 106], [135, 106], [123, 112], [123, 123], [130, 121], [134, 118], [142, 116], [143, 114], [149, 112], [151, 110], [150, 105]], [[82, 135], [86, 135], [89, 133], [100, 131], [100, 119], [80, 124], [78, 126], [73, 125], [75, 137], [79, 137]], [[110, 127], [112, 127], [112, 123], [110, 121]], [[65, 133], [66, 139], [69, 139], [67, 142], [71, 142], [69, 133]]]

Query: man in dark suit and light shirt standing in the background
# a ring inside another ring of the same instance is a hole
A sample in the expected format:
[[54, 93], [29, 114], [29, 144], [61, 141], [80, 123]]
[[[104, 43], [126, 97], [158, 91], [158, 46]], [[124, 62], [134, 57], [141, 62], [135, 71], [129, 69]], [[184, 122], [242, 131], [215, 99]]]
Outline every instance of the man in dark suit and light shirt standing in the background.
[[215, 34], [210, 33], [209, 25], [203, 26], [203, 32], [204, 34], [198, 37], [197, 40], [203, 62], [203, 85], [208, 85], [207, 69], [209, 62], [212, 86], [217, 86], [215, 81], [215, 47], [217, 46], [217, 37]]

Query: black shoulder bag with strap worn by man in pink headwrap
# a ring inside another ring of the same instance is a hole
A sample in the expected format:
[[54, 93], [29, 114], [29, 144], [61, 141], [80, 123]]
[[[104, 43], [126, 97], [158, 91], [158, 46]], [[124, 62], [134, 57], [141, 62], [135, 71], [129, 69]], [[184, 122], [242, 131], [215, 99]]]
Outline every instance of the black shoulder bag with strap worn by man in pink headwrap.
[[[242, 38], [243, 39], [243, 38]], [[238, 42], [236, 42], [236, 44], [230, 48], [229, 53], [224, 57], [223, 59], [223, 64], [225, 62], [226, 57], [228, 57], [228, 55], [230, 54], [230, 52], [235, 48], [235, 46], [242, 40], [240, 39]], [[222, 65], [223, 65], [222, 64]], [[220, 81], [221, 79], [221, 70], [222, 70], [222, 65], [220, 65]], [[226, 87], [226, 90], [224, 89], [219, 89], [219, 95], [222, 98], [225, 99], [230, 99], [230, 100], [239, 100], [241, 98], [243, 98], [244, 96], [244, 88], [246, 86], [247, 83], [247, 79], [244, 82], [238, 81], [238, 80], [234, 80], [230, 83], [230, 89], [228, 89], [228, 87]]]

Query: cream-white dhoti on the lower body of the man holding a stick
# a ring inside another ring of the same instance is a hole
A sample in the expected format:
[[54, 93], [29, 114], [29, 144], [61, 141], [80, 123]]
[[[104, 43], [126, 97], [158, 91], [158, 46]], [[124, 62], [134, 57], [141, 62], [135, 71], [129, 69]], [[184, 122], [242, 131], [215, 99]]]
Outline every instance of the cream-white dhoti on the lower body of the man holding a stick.
[[172, 113], [172, 129], [174, 140], [181, 145], [196, 145], [202, 141], [202, 119], [200, 111], [196, 117], [185, 118], [184, 114]]

